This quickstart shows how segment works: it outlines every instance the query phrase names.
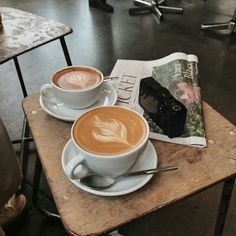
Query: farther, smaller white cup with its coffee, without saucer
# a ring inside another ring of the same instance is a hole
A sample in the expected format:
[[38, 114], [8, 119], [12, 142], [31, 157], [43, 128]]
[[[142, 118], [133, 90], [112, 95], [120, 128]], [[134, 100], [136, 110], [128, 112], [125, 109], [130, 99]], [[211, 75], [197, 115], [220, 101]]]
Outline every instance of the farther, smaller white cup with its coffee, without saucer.
[[[41, 87], [41, 96], [52, 103], [55, 103], [52, 98], [56, 98], [58, 103], [70, 108], [83, 109], [98, 100], [103, 78], [103, 74], [93, 67], [65, 67], [53, 74], [51, 84]], [[47, 96], [48, 93], [51, 95]]]

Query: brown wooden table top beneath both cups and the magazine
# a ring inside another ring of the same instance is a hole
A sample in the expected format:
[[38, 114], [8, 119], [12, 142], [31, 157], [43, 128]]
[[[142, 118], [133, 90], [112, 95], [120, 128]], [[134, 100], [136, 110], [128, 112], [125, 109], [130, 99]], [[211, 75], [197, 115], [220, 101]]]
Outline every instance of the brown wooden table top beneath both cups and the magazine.
[[159, 166], [176, 165], [178, 171], [153, 176], [144, 187], [127, 195], [93, 195], [73, 185], [61, 166], [72, 124], [45, 113], [39, 94], [25, 98], [23, 108], [61, 220], [72, 235], [112, 230], [236, 174], [236, 127], [204, 103], [206, 148], [152, 140]]

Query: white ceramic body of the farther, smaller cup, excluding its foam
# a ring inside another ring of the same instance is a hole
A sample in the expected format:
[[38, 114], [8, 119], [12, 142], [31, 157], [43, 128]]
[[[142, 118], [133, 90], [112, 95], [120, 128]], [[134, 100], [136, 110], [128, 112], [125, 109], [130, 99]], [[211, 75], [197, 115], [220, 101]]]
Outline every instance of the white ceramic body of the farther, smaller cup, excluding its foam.
[[[84, 71], [89, 70], [99, 77], [99, 82], [93, 86], [83, 89], [66, 89], [59, 87], [55, 83], [55, 77], [59, 73], [67, 73], [71, 70]], [[41, 96], [52, 104], [65, 104], [73, 109], [83, 109], [93, 105], [99, 98], [104, 81], [103, 74], [89, 66], [69, 66], [56, 71], [51, 77], [51, 84], [44, 84], [40, 89]], [[55, 101], [56, 99], [56, 101]]]

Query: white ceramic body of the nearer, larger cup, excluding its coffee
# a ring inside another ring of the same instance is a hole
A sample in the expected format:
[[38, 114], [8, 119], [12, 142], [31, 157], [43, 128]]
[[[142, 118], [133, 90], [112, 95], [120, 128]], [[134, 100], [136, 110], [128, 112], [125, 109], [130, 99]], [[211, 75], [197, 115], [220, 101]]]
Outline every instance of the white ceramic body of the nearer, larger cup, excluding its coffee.
[[[90, 111], [96, 109], [109, 109], [110, 107], [111, 106], [98, 107], [91, 109]], [[112, 108], [116, 107], [119, 106], [113, 106]], [[149, 126], [147, 121], [137, 112], [124, 107], [119, 108], [121, 108], [121, 112], [123, 110], [128, 110], [141, 118], [143, 127], [145, 127], [145, 133], [141, 142], [131, 150], [116, 155], [110, 154], [104, 156], [86, 151], [75, 141], [73, 135], [73, 129], [76, 123], [81, 119], [80, 117], [74, 122], [71, 129], [71, 139], [74, 144], [75, 151], [78, 155], [70, 160], [65, 167], [65, 173], [69, 178], [79, 179], [88, 175], [89, 172], [94, 172], [103, 176], [117, 176], [127, 172], [135, 164], [139, 155], [146, 148], [149, 138]], [[87, 113], [89, 113], [90, 111], [88, 111]], [[129, 117], [127, 117], [127, 119], [129, 119]], [[86, 133], [84, 133], [84, 135], [86, 135]]]

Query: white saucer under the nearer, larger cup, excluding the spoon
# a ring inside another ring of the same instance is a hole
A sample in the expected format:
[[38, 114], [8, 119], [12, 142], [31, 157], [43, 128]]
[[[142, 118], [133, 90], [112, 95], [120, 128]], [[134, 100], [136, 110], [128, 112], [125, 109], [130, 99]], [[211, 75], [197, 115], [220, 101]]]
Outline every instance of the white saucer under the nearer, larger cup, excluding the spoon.
[[[71, 140], [67, 142], [65, 145], [62, 156], [61, 156], [61, 162], [62, 162], [62, 168], [65, 171], [66, 164], [75, 156], [77, 155], [73, 143]], [[153, 146], [153, 144], [149, 141], [146, 149], [144, 152], [140, 155], [138, 161], [133, 166], [131, 171], [138, 171], [138, 170], [144, 170], [144, 169], [151, 169], [156, 168], [158, 163], [158, 158], [156, 154], [156, 150]], [[142, 186], [144, 186], [153, 175], [141, 175], [141, 176], [132, 176], [132, 177], [126, 177], [117, 182], [112, 187], [106, 189], [106, 190], [96, 190], [87, 187], [86, 185], [83, 185], [80, 183], [80, 180], [72, 180], [69, 178], [69, 180], [79, 187], [80, 189], [83, 189], [84, 191], [87, 191], [89, 193], [93, 193], [96, 195], [101, 196], [119, 196], [124, 195], [127, 193], [131, 193]]]

